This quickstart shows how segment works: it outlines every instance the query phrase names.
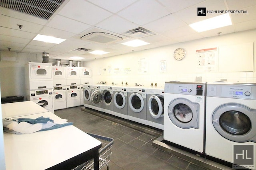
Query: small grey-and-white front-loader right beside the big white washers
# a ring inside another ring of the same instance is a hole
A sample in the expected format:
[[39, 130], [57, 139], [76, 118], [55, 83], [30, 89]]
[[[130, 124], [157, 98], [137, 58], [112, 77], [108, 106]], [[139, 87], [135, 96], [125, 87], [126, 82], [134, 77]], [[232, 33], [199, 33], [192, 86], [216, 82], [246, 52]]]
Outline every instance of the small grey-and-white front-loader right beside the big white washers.
[[147, 125], [164, 130], [164, 88], [147, 88]]

